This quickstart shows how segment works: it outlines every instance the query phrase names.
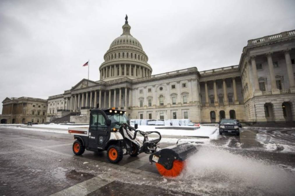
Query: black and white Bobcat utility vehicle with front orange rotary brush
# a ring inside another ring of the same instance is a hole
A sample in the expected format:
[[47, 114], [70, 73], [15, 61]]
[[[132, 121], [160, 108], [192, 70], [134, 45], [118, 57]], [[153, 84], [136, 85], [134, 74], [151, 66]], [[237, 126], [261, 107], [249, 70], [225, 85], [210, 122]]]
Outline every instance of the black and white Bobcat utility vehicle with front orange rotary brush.
[[[161, 134], [157, 131], [143, 132], [137, 130], [137, 124], [130, 126], [126, 112], [112, 109], [92, 109], [89, 128], [69, 128], [74, 135], [75, 155], [82, 155], [86, 150], [107, 151], [111, 163], [118, 163], [123, 155], [137, 156], [144, 152], [150, 154], [149, 160], [163, 176], [176, 177], [184, 167], [184, 162], [196, 147], [192, 144], [177, 144], [167, 148], [158, 148]], [[149, 140], [149, 134], [158, 134], [156, 139]], [[141, 138], [143, 139], [140, 139]]]

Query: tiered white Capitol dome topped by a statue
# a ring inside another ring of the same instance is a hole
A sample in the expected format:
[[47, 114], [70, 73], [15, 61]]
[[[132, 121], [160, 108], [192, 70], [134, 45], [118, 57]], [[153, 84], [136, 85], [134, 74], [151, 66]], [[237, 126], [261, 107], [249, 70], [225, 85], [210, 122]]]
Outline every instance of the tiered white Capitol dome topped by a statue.
[[125, 17], [123, 33], [112, 41], [99, 67], [100, 79], [104, 81], [128, 77], [130, 79], [149, 77], [152, 68], [140, 42], [130, 34], [131, 26]]

